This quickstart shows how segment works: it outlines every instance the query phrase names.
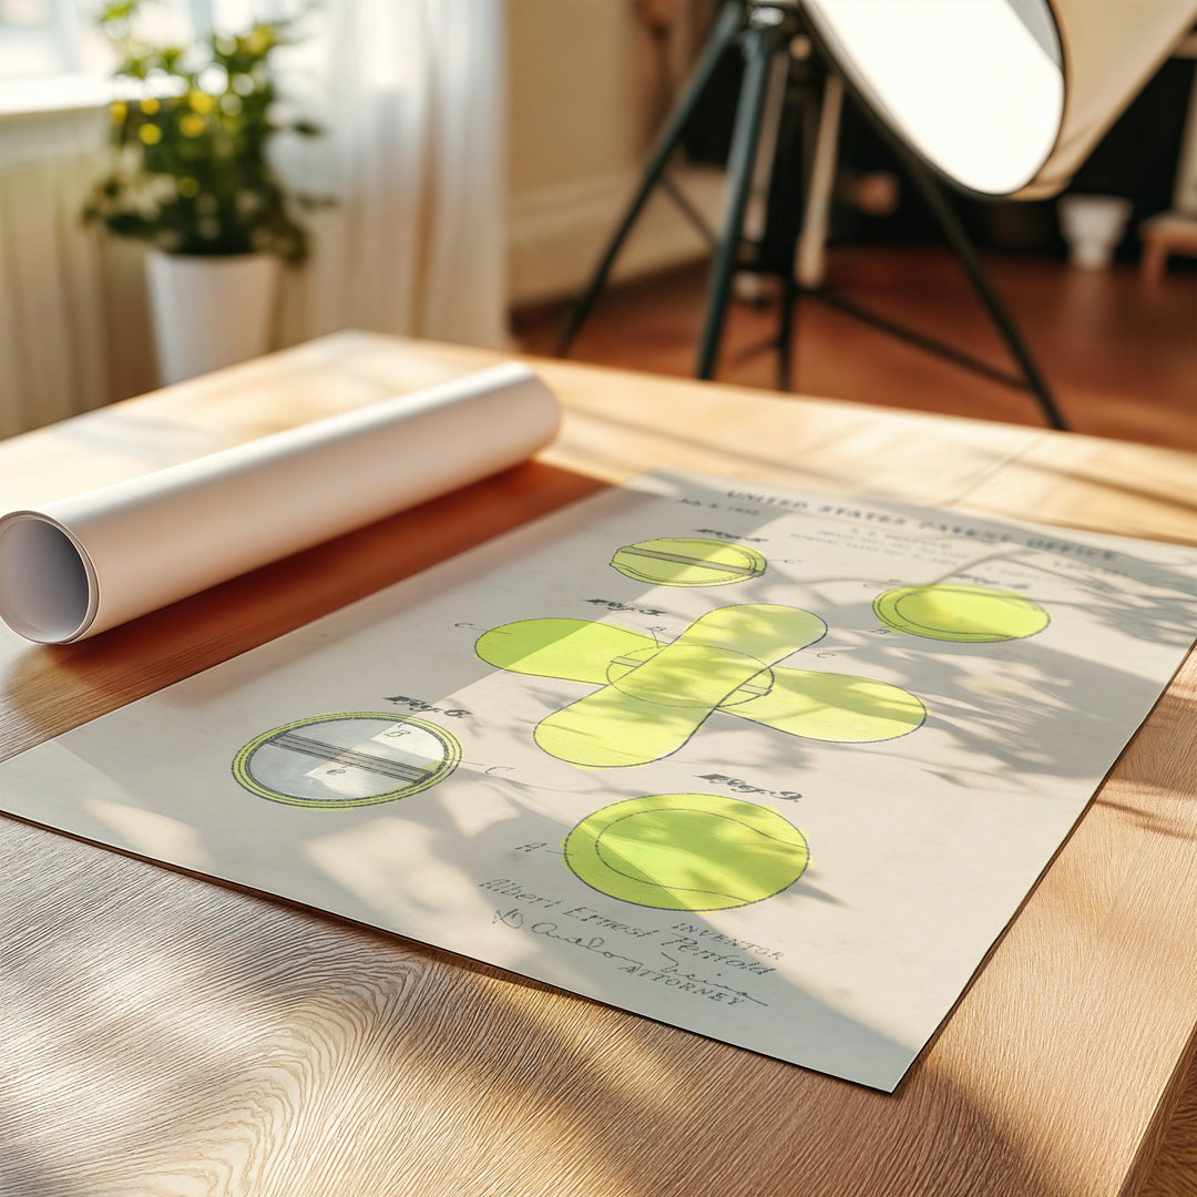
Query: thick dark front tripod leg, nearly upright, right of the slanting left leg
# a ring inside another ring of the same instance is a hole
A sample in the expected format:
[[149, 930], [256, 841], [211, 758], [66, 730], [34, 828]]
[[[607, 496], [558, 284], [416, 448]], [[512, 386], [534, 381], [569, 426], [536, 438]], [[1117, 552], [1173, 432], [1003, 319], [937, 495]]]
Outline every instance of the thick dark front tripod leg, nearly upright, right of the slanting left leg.
[[[786, 35], [788, 36], [788, 35]], [[774, 51], [784, 45], [777, 25], [752, 25], [745, 34], [745, 77], [740, 87], [736, 123], [731, 133], [731, 150], [728, 153], [728, 211], [723, 221], [723, 238], [711, 269], [707, 288], [706, 317], [703, 340], [698, 352], [694, 373], [699, 378], [715, 377], [715, 363], [719, 354], [723, 321], [728, 311], [731, 275], [742, 239], [745, 209], [752, 186], [752, 169], [760, 136], [760, 119], [765, 109], [768, 90], [770, 62]]]

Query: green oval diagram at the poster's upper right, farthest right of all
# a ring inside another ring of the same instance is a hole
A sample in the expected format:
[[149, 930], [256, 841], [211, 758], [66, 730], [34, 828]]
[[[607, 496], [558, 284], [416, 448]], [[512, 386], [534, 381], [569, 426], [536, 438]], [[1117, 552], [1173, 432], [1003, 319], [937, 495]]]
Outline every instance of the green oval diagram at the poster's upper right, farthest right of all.
[[1020, 640], [1049, 622], [1043, 607], [1013, 590], [948, 583], [887, 590], [873, 609], [895, 632], [964, 644]]

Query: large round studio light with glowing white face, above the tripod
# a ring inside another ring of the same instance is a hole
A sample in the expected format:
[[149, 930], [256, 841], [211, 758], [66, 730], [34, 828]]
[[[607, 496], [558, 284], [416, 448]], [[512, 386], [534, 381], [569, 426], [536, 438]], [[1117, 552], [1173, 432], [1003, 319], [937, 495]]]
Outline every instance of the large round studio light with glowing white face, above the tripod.
[[837, 68], [946, 178], [1064, 188], [1192, 25], [1192, 0], [804, 0]]

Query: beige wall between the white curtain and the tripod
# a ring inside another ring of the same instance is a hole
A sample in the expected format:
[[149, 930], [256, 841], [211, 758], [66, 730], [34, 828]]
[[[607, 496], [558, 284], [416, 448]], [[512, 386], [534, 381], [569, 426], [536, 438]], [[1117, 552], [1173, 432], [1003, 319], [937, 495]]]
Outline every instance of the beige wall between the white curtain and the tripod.
[[[506, 0], [511, 293], [530, 303], [587, 280], [639, 181], [661, 116], [683, 74], [701, 12], [694, 0]], [[658, 50], [638, 11], [674, 13]], [[722, 174], [672, 177], [710, 220]], [[614, 277], [700, 257], [706, 245], [664, 196], [638, 221]]]

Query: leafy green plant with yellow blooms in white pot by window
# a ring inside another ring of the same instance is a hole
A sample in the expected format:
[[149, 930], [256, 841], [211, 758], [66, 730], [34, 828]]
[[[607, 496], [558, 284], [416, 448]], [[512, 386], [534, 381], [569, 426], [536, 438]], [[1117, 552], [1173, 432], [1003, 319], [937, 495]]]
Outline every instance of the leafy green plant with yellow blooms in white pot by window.
[[116, 53], [113, 165], [84, 219], [150, 244], [150, 310], [165, 382], [271, 348], [280, 263], [300, 262], [308, 235], [268, 158], [280, 121], [272, 55], [291, 23], [257, 23], [190, 45], [156, 45], [142, 0], [115, 0], [99, 26]]

